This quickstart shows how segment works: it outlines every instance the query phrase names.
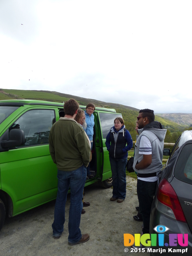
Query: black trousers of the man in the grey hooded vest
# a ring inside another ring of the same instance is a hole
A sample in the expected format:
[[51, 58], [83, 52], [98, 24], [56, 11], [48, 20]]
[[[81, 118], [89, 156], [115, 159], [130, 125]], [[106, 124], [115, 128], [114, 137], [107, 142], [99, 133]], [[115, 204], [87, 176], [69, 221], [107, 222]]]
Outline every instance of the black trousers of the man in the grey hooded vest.
[[156, 190], [156, 182], [137, 180], [137, 195], [139, 200], [139, 212], [143, 218], [143, 234], [149, 234], [149, 222], [153, 197]]

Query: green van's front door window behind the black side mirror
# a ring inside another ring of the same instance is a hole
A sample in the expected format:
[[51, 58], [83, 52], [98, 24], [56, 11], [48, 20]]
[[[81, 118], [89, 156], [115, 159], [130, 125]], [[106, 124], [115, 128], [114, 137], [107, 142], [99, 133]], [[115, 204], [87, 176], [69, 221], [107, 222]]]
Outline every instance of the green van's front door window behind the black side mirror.
[[24, 131], [25, 144], [20, 147], [48, 144], [49, 132], [54, 122], [54, 110], [29, 110], [9, 130], [21, 129]]

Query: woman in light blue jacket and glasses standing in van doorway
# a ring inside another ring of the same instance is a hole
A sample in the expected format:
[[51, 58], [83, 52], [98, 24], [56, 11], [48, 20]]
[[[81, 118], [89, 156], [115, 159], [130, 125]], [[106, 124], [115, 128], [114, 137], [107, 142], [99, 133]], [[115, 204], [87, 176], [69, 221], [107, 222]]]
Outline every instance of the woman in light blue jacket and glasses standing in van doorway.
[[[93, 112], [95, 110], [95, 105], [93, 103], [88, 103], [87, 106], [86, 106], [86, 110], [85, 110], [85, 121], [86, 121], [86, 124], [87, 124], [87, 128], [84, 129], [87, 136], [89, 137], [90, 139], [90, 142], [91, 142], [91, 150], [93, 148], [93, 134], [94, 134], [94, 130], [93, 130], [93, 127], [94, 127], [94, 115], [93, 115]], [[94, 175], [92, 175], [90, 173], [90, 163], [87, 167], [87, 180], [88, 179], [92, 179], [94, 178]]]

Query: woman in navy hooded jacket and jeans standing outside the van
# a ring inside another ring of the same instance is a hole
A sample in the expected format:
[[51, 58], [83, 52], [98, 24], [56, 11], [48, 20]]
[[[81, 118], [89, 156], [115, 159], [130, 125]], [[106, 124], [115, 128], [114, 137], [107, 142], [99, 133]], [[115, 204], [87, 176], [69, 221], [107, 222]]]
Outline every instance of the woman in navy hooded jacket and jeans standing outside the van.
[[113, 196], [111, 201], [118, 203], [124, 201], [126, 196], [126, 163], [128, 150], [133, 146], [133, 141], [128, 130], [125, 129], [124, 120], [117, 117], [114, 126], [106, 137], [106, 147], [109, 151], [109, 160], [112, 171]]

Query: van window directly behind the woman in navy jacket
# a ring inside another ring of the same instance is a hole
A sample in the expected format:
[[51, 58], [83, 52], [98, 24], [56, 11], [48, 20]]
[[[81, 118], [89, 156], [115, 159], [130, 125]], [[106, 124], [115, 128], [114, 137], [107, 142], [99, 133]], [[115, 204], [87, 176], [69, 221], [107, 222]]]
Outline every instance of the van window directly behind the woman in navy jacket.
[[110, 132], [110, 128], [114, 126], [114, 120], [116, 117], [121, 117], [121, 114], [99, 113], [103, 138], [105, 139]]

